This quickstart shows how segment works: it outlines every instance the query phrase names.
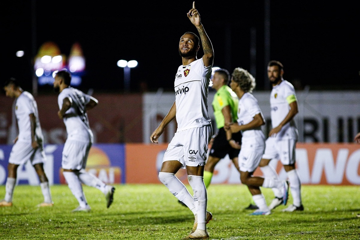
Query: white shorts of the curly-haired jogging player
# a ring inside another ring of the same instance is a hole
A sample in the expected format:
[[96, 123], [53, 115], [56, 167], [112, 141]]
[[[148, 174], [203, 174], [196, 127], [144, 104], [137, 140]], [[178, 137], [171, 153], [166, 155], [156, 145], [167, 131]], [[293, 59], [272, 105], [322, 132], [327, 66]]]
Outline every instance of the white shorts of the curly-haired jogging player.
[[259, 166], [265, 144], [253, 144], [242, 141], [239, 153], [239, 168], [242, 172], [254, 172]]

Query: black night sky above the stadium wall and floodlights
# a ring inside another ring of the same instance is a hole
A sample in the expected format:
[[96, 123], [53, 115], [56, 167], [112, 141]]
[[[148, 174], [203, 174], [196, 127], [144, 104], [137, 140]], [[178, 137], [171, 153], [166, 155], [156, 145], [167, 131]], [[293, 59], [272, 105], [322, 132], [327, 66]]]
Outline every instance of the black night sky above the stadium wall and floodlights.
[[[181, 65], [179, 39], [186, 31], [197, 33], [186, 17], [192, 1], [33, 2], [35, 28], [31, 1], [19, 0], [3, 7], [1, 27], [3, 77], [24, 80], [29, 90], [30, 59], [46, 41], [54, 41], [65, 55], [75, 42], [81, 44], [86, 72], [80, 89], [123, 91], [123, 69], [116, 62], [136, 59], [139, 65], [131, 69], [131, 91], [137, 91], [141, 81], [149, 90], [171, 90]], [[195, 6], [213, 44], [214, 66], [230, 72], [252, 67], [256, 89], [265, 89], [264, 1], [202, 0]], [[358, 10], [350, 1], [270, 0], [270, 60], [284, 64], [285, 79], [299, 79], [310, 89], [359, 89]], [[256, 31], [253, 41], [251, 31]], [[251, 45], [256, 47], [255, 59], [250, 58]], [[24, 50], [25, 57], [15, 57], [17, 50]]]

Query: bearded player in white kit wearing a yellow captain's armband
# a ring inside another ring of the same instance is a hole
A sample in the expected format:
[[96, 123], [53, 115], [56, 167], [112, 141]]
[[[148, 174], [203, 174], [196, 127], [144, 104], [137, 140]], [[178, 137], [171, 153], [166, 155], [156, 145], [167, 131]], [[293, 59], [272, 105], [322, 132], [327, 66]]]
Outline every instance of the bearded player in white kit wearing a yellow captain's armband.
[[[275, 169], [269, 165], [271, 159], [280, 159], [288, 175], [293, 204], [283, 209], [283, 212], [303, 211], [301, 200], [301, 180], [295, 168], [295, 148], [298, 131], [294, 117], [298, 113], [295, 89], [291, 83], [283, 79], [284, 68], [279, 61], [272, 60], [267, 65], [267, 76], [273, 89], [270, 94], [271, 125], [266, 140], [265, 153], [260, 162], [260, 169], [265, 177], [279, 179]], [[283, 202], [279, 190], [274, 188], [275, 198], [269, 205], [274, 209]]]

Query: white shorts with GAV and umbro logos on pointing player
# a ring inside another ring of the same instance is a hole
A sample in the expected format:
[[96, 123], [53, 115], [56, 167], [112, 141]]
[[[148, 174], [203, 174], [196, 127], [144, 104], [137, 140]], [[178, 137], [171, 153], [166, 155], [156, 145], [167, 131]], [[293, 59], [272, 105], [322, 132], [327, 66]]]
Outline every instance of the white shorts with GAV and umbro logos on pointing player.
[[212, 127], [203, 126], [176, 132], [169, 143], [162, 162], [177, 160], [183, 167], [204, 166]]

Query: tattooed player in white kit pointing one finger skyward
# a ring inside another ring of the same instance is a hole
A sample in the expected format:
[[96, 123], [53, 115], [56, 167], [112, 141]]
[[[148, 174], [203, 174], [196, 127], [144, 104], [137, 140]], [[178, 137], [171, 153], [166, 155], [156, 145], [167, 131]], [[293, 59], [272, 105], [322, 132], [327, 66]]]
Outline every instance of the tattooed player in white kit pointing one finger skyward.
[[[211, 41], [200, 21], [195, 2], [187, 16], [199, 32], [204, 55], [197, 59], [200, 44], [195, 33], [186, 32], [181, 36], [179, 54], [183, 64], [175, 75], [175, 102], [150, 136], [150, 140], [158, 143], [158, 137], [164, 128], [176, 117], [177, 130], [164, 154], [159, 180], [194, 214], [193, 229], [183, 239], [208, 239], [206, 223], [211, 220], [212, 214], [206, 210], [207, 192], [203, 173], [208, 143], [212, 136], [207, 96], [214, 57]], [[175, 176], [180, 168], [186, 168], [194, 196]]]

